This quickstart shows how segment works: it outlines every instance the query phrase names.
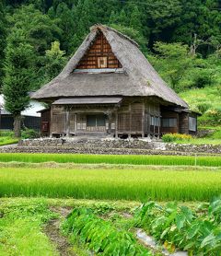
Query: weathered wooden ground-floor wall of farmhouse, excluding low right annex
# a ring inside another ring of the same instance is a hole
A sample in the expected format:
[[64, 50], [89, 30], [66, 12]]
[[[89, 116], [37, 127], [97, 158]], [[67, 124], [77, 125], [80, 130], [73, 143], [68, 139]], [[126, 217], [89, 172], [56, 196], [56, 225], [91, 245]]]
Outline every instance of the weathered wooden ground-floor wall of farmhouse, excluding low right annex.
[[[90, 126], [88, 115], [101, 114], [105, 118], [102, 126]], [[98, 106], [52, 106], [52, 134], [81, 134], [89, 132], [116, 135], [159, 134], [160, 110], [157, 103], [145, 99], [123, 99], [120, 107]]]

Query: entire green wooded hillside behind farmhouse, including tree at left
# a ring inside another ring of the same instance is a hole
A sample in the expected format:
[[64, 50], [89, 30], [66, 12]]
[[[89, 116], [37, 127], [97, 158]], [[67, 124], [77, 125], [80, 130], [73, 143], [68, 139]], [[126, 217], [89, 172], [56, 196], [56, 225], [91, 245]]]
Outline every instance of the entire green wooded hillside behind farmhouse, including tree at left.
[[[16, 115], [29, 106], [27, 92], [56, 76], [90, 26], [99, 23], [137, 41], [157, 72], [183, 94], [192, 110], [208, 112], [202, 123], [219, 124], [219, 0], [1, 0], [0, 87], [8, 99], [6, 109]], [[212, 90], [210, 98], [215, 103], [195, 102], [186, 94], [192, 89], [201, 89], [205, 95]], [[24, 93], [15, 110], [17, 90]]]

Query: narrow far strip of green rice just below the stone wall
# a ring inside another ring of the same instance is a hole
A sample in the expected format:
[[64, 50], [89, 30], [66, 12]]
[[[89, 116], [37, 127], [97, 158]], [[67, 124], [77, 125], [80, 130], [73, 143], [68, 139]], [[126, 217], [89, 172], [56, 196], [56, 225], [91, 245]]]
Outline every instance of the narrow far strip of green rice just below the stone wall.
[[183, 157], [183, 156], [145, 156], [145, 155], [87, 155], [87, 154], [26, 154], [2, 153], [0, 162], [28, 162], [77, 164], [126, 164], [126, 165], [161, 165], [161, 166], [207, 166], [220, 167], [221, 157]]

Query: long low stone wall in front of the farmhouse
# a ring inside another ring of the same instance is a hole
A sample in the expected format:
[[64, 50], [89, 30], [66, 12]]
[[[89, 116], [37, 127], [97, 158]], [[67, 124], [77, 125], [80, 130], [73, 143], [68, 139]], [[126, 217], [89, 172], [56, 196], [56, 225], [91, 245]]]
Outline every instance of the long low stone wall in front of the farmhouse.
[[169, 144], [147, 139], [41, 138], [23, 140], [17, 147], [0, 148], [0, 152], [194, 155], [221, 154], [221, 145]]

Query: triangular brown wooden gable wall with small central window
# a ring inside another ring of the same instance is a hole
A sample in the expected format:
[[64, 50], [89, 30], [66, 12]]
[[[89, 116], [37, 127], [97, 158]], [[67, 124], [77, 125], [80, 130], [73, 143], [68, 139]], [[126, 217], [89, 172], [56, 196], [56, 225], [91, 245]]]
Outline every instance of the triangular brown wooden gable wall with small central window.
[[81, 59], [76, 69], [97, 69], [97, 68], [120, 68], [122, 64], [118, 61], [111, 50], [111, 45], [99, 33], [94, 43]]

